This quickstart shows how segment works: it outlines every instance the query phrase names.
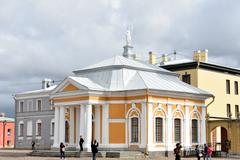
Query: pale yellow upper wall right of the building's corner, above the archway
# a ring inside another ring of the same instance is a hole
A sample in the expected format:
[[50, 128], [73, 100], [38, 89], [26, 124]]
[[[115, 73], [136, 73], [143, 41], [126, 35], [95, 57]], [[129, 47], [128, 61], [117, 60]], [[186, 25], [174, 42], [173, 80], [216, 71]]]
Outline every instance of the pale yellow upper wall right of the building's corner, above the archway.
[[[227, 79], [230, 80], [230, 94], [226, 94]], [[215, 96], [215, 101], [207, 109], [210, 116], [227, 117], [227, 104], [231, 104], [232, 118], [236, 118], [235, 105], [240, 105], [240, 92], [235, 95], [234, 81], [240, 86], [240, 76], [198, 69], [198, 87]]]

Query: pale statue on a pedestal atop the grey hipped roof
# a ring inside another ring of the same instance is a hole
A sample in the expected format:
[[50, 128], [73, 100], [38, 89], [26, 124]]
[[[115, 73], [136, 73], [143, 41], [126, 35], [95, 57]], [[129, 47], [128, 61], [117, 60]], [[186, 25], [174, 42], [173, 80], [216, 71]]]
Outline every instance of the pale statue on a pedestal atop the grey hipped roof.
[[136, 55], [132, 53], [133, 46], [132, 46], [132, 38], [131, 38], [131, 32], [129, 27], [127, 28], [125, 36], [126, 36], [126, 45], [123, 46], [124, 48], [123, 56], [126, 58], [135, 59]]

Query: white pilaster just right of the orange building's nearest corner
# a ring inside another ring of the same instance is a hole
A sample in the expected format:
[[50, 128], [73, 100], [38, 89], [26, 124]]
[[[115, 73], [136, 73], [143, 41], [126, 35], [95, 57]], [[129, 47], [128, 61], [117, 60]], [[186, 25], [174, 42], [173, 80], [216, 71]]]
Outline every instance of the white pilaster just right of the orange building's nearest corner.
[[147, 107], [147, 113], [148, 113], [148, 136], [147, 136], [147, 140], [148, 140], [148, 151], [152, 150], [152, 145], [153, 145], [153, 114], [152, 114], [152, 108], [153, 108], [153, 104], [152, 103], [148, 103], [148, 107]]

